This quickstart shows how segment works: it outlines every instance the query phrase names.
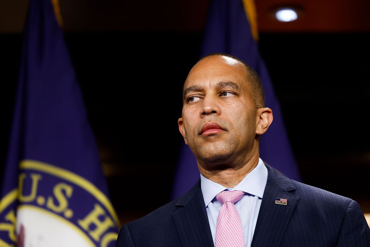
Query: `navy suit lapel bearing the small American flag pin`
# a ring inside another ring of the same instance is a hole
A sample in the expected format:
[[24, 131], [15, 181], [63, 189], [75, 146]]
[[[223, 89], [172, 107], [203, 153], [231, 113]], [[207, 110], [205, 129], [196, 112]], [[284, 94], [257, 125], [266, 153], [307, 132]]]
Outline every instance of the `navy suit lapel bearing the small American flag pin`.
[[[289, 178], [268, 168], [268, 179], [263, 193], [251, 247], [279, 246], [286, 226], [299, 197], [289, 193], [295, 186]], [[275, 198], [287, 199], [287, 205], [275, 204]]]

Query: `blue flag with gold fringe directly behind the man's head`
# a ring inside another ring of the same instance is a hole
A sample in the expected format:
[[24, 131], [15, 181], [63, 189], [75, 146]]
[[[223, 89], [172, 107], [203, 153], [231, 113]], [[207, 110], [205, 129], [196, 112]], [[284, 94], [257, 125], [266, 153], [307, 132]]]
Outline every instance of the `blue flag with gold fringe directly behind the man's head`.
[[[285, 176], [300, 181], [298, 167], [285, 130], [280, 105], [263, 62], [258, 43], [253, 38], [249, 19], [255, 16], [251, 0], [213, 0], [206, 20], [200, 57], [222, 52], [249, 64], [261, 78], [266, 95], [266, 107], [273, 111], [273, 123], [260, 137], [260, 157]], [[249, 17], [249, 18], [248, 18]], [[190, 148], [182, 144], [175, 174], [172, 198], [181, 196], [199, 179], [196, 159]]]

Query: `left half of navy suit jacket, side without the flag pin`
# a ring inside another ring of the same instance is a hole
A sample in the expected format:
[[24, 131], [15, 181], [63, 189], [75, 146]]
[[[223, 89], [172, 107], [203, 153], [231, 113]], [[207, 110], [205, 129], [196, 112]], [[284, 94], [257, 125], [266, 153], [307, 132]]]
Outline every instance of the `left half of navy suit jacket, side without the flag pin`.
[[200, 180], [183, 196], [122, 226], [116, 246], [213, 246]]

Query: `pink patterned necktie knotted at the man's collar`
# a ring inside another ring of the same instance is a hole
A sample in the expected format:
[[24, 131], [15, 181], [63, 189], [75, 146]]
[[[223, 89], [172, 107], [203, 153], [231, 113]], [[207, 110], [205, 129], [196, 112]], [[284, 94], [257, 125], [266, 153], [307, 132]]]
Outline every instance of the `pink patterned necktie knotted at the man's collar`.
[[216, 247], [244, 247], [243, 227], [234, 203], [244, 195], [243, 191], [222, 191], [216, 199], [222, 204], [216, 225]]

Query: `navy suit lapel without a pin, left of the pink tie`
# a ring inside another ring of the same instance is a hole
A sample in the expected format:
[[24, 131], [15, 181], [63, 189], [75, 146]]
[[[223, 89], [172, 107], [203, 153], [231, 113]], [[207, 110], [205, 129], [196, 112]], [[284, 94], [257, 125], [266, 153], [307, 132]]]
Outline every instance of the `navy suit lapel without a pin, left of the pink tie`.
[[176, 230], [184, 247], [213, 247], [211, 229], [204, 206], [200, 180], [176, 203], [172, 213]]

